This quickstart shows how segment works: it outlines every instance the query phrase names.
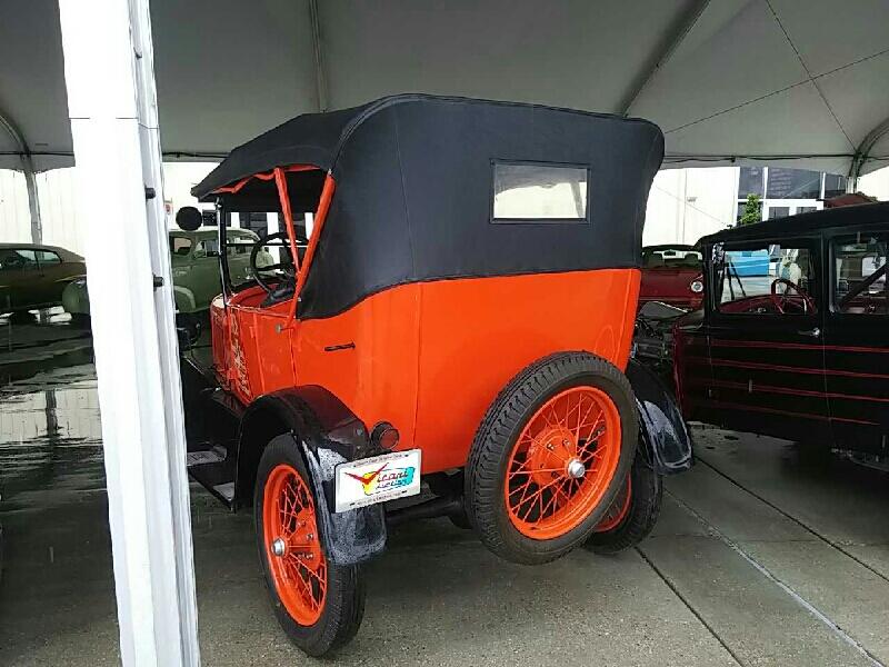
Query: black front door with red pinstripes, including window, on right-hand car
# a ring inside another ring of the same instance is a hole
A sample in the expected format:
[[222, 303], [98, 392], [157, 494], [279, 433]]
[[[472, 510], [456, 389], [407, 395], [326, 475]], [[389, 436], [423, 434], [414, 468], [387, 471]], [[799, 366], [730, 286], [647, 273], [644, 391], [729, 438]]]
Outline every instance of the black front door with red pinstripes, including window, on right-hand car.
[[819, 249], [818, 238], [716, 248], [710, 420], [798, 441], [828, 437]]

